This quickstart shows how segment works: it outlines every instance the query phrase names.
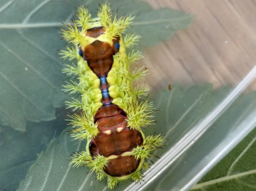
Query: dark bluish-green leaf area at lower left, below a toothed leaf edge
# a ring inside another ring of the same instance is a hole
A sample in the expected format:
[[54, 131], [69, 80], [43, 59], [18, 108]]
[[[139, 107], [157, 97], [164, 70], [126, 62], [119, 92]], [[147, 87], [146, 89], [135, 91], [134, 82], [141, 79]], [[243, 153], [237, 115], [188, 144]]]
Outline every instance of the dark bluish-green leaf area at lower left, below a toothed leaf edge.
[[[60, 115], [60, 113], [58, 112]], [[64, 116], [61, 115], [61, 118]], [[28, 122], [27, 131], [2, 126], [0, 132], [0, 190], [16, 190], [38, 154], [63, 130], [63, 121]]]

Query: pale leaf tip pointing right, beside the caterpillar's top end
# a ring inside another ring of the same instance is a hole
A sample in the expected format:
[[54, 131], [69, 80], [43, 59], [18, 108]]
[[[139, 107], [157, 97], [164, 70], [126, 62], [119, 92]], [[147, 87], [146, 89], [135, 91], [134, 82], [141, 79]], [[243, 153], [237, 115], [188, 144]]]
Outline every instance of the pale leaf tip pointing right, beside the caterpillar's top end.
[[191, 25], [194, 15], [168, 8], [150, 10], [135, 17], [130, 31], [141, 35], [142, 46], [155, 46]]

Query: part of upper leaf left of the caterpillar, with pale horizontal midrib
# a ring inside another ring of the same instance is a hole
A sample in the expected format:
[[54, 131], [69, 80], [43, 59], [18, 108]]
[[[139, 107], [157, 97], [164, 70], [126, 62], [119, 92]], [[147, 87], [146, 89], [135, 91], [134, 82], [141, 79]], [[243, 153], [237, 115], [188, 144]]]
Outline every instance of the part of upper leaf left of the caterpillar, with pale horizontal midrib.
[[5, 18], [0, 24], [0, 121], [25, 131], [27, 120], [53, 120], [55, 108], [63, 105], [63, 66], [57, 56], [62, 43], [54, 23], [75, 6], [23, 0], [1, 1], [0, 7]]

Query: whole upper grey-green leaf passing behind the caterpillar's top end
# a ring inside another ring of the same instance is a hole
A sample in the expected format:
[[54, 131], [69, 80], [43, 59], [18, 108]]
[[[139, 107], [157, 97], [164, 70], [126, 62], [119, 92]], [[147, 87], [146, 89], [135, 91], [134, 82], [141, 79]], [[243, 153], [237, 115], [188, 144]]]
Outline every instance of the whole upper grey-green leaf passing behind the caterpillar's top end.
[[[0, 1], [0, 123], [25, 131], [28, 121], [55, 119], [63, 105], [65, 75], [58, 49], [64, 42], [56, 28], [70, 21], [77, 5], [85, 4], [93, 16], [102, 0]], [[110, 0], [119, 15], [137, 16], [132, 31], [143, 36], [137, 49], [159, 44], [189, 25], [193, 16], [180, 11], [152, 8], [136, 0]], [[166, 19], [168, 18], [168, 19]], [[140, 48], [139, 48], [140, 47]]]

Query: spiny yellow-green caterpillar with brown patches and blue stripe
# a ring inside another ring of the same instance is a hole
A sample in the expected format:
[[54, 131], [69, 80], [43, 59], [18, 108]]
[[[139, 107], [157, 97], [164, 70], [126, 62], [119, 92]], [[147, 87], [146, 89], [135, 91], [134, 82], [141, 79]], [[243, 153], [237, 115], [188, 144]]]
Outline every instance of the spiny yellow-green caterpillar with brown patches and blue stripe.
[[97, 18], [91, 18], [84, 7], [78, 8], [76, 16], [73, 25], [64, 24], [61, 29], [71, 46], [60, 54], [77, 60], [77, 65], [66, 65], [63, 70], [77, 76], [77, 81], [67, 82], [64, 91], [81, 94], [81, 101], [73, 98], [66, 105], [74, 111], [69, 120], [71, 136], [86, 139], [87, 146], [86, 151], [70, 155], [70, 165], [89, 166], [98, 180], [107, 177], [110, 189], [125, 179], [139, 183], [141, 170], [149, 168], [146, 160], [165, 140], [160, 134], [145, 137], [142, 132], [155, 122], [154, 108], [152, 102], [141, 99], [147, 97], [148, 86], [132, 88], [134, 81], [147, 75], [143, 67], [129, 71], [130, 63], [142, 58], [140, 52], [125, 52], [139, 39], [135, 34], [122, 37], [133, 17], [118, 19], [107, 3], [102, 4]]

